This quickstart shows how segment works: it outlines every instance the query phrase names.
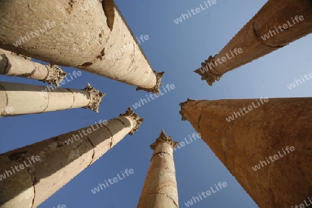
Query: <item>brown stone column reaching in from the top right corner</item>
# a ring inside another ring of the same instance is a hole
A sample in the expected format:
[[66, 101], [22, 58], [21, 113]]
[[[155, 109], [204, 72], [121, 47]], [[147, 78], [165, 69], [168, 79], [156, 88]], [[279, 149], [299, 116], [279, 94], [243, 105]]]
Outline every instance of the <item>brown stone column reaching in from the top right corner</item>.
[[195, 72], [211, 86], [227, 71], [261, 58], [310, 33], [311, 0], [269, 0], [217, 55], [209, 56]]

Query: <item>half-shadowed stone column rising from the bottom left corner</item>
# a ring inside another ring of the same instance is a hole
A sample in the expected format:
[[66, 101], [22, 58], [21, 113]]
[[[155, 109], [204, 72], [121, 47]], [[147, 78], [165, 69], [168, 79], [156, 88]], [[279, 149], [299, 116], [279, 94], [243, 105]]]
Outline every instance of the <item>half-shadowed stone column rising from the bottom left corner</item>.
[[1, 154], [0, 207], [37, 207], [143, 121], [129, 108], [116, 119]]

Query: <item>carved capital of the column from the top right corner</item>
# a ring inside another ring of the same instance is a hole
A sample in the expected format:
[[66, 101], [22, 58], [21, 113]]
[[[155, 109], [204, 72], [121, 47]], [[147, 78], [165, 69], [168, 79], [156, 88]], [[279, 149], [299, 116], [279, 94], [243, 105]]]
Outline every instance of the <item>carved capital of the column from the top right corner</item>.
[[216, 75], [211, 72], [211, 68], [214, 69], [215, 58], [216, 55], [214, 57], [210, 55], [209, 58], [205, 60], [205, 62], [202, 62], [202, 67], [194, 71], [195, 73], [198, 73], [200, 76], [202, 76], [201, 79], [206, 80], [209, 86], [220, 80], [222, 77], [222, 75]]

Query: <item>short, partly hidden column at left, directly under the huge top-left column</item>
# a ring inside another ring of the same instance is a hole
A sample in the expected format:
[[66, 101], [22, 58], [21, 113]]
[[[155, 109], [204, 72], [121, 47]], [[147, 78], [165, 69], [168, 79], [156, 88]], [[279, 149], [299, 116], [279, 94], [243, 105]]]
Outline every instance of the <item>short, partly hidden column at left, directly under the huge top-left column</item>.
[[57, 65], [32, 62], [31, 58], [3, 49], [0, 49], [0, 74], [41, 80], [56, 87], [67, 75]]

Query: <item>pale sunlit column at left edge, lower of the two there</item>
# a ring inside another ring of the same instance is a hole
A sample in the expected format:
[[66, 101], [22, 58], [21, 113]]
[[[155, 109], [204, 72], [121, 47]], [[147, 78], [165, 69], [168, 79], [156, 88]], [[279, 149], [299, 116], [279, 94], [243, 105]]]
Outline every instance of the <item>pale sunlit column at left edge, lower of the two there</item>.
[[0, 82], [0, 116], [37, 114], [78, 107], [88, 107], [98, 112], [103, 96], [105, 94], [89, 84], [85, 89], [77, 90]]

